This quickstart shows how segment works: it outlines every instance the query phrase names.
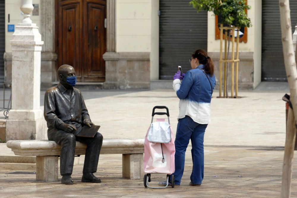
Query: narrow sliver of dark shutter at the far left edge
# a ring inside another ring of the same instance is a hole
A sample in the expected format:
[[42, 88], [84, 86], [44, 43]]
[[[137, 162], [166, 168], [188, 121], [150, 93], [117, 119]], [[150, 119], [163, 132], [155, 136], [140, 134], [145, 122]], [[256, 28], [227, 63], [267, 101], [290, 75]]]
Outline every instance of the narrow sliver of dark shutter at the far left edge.
[[4, 83], [4, 59], [5, 52], [5, 1], [0, 0], [0, 85]]

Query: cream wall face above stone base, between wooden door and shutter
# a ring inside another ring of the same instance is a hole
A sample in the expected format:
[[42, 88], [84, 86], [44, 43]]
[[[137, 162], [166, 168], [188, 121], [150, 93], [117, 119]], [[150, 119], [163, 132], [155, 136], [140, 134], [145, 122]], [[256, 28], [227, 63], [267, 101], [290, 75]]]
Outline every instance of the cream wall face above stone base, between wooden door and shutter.
[[116, 51], [151, 51], [151, 0], [116, 1]]

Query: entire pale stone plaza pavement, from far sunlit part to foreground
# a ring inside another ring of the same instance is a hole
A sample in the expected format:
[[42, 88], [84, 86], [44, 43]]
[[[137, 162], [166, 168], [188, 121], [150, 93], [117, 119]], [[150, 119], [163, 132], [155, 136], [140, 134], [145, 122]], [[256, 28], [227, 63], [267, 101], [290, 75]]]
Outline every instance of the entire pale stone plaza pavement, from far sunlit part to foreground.
[[[99, 97], [92, 97], [92, 92], [83, 94], [92, 121], [101, 125], [100, 132], [106, 138], [143, 138], [156, 105], [168, 106], [176, 132], [178, 99], [172, 90], [121, 91]], [[279, 197], [285, 142], [284, 92], [261, 90], [239, 95], [242, 98], [219, 99], [214, 92], [201, 186], [189, 186], [189, 145], [182, 183], [175, 188], [148, 189], [142, 179], [122, 179], [121, 155], [101, 155], [95, 175], [102, 183], [82, 183], [81, 156], [80, 164], [74, 166], [75, 184], [70, 186], [36, 182], [33, 171], [0, 170], [0, 197]], [[296, 165], [294, 162], [293, 167]], [[165, 176], [152, 175], [150, 185], [165, 180]], [[291, 197], [297, 197], [296, 186], [297, 169], [293, 168]]]

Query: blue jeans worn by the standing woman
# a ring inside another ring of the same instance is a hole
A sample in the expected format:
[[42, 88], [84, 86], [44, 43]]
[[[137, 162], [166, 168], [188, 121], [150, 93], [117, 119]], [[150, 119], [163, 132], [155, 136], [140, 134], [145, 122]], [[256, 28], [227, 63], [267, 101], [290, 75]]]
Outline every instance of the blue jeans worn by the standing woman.
[[192, 143], [193, 168], [191, 182], [201, 184], [204, 172], [204, 132], [208, 124], [199, 124], [187, 116], [178, 120], [175, 138], [175, 184], [180, 185], [184, 173], [185, 153], [189, 144]]

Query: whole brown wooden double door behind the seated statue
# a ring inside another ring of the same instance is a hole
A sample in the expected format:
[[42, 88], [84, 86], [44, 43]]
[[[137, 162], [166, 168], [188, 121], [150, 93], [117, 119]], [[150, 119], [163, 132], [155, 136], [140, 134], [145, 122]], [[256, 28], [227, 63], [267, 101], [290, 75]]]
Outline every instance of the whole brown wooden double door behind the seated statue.
[[75, 68], [80, 82], [105, 81], [106, 0], [56, 0], [57, 67]]

